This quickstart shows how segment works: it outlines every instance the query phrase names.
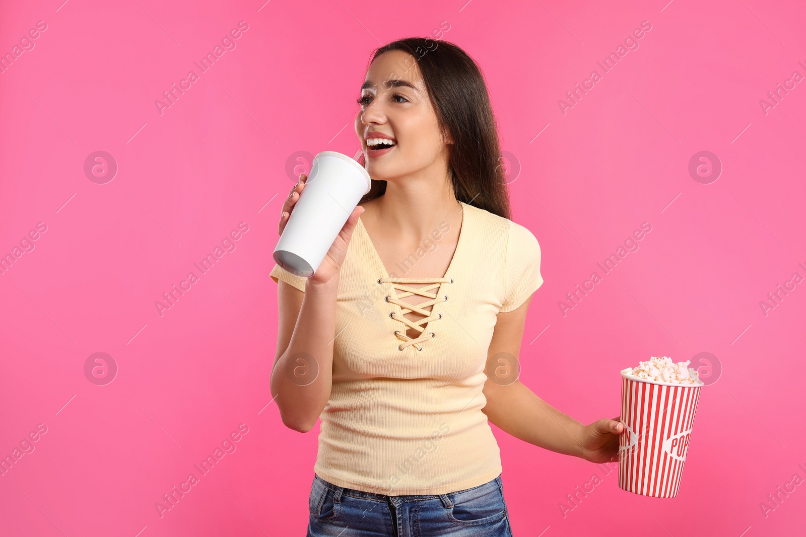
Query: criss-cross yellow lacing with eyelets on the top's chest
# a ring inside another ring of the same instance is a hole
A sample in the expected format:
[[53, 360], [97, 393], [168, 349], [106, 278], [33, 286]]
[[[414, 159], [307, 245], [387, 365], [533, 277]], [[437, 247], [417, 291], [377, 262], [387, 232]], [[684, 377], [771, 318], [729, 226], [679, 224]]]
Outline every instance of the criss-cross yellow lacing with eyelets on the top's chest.
[[[442, 319], [442, 313], [434, 312], [436, 306], [434, 304], [438, 304], [439, 302], [445, 302], [448, 299], [447, 295], [436, 295], [435, 293], [428, 292], [428, 289], [433, 289], [434, 287], [439, 287], [442, 283], [453, 283], [453, 278], [379, 278], [378, 283], [391, 283], [394, 287], [396, 294], [397, 291], [403, 291], [400, 295], [397, 295], [397, 299], [393, 298], [392, 296], [386, 295], [385, 300], [390, 304], [397, 304], [401, 307], [401, 314], [398, 315], [396, 312], [391, 312], [389, 317], [394, 320], [399, 320], [401, 323], [405, 324], [408, 328], [414, 328], [419, 330], [420, 337], [411, 338], [406, 334], [406, 328], [402, 332], [400, 330], [395, 330], [395, 336], [398, 339], [402, 340], [403, 343], [397, 346], [397, 350], [403, 350], [409, 345], [415, 345], [415, 349], [422, 352], [422, 341], [430, 340], [434, 338], [434, 333], [430, 332], [425, 336], [422, 335], [423, 331], [425, 331], [426, 325], [432, 320]], [[409, 287], [404, 285], [405, 283], [429, 283], [430, 285], [426, 285], [420, 288], [416, 287]], [[407, 296], [411, 295], [420, 295], [429, 298], [430, 300], [426, 300], [425, 302], [421, 302], [420, 304], [409, 304], [407, 302], [402, 302], [400, 299], [405, 299]], [[424, 309], [428, 306], [433, 306], [431, 311]], [[405, 314], [409, 312], [418, 312], [420, 315], [423, 315], [422, 319], [414, 322], [412, 320], [406, 319]]]

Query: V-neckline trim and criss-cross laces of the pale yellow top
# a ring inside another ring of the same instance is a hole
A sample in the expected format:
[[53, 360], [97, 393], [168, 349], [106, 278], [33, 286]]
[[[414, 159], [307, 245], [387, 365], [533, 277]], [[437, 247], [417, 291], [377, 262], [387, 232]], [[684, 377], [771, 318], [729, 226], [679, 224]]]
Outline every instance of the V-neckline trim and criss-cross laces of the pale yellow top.
[[[364, 234], [364, 238], [366, 238], [368, 242], [368, 248], [372, 251], [373, 257], [376, 259], [376, 265], [378, 267], [378, 271], [382, 275], [379, 279], [377, 279], [378, 285], [383, 285], [384, 283], [391, 283], [392, 284], [392, 295], [386, 295], [384, 300], [388, 304], [394, 304], [397, 306], [397, 312], [389, 312], [389, 318], [397, 320], [404, 325], [402, 330], [398, 329], [394, 331], [394, 335], [397, 339], [401, 340], [401, 344], [397, 346], [398, 350], [404, 351], [406, 347], [413, 346], [418, 351], [422, 352], [423, 346], [420, 345], [423, 341], [427, 341], [436, 337], [435, 331], [430, 330], [431, 328], [431, 321], [438, 321], [442, 319], [442, 313], [436, 311], [438, 306], [437, 304], [441, 304], [442, 302], [446, 302], [448, 300], [447, 293], [442, 291], [442, 285], [452, 285], [454, 283], [454, 279], [451, 277], [451, 269], [454, 266], [456, 258], [459, 257], [460, 248], [462, 247], [463, 243], [463, 236], [464, 236], [464, 229], [466, 227], [467, 222], [467, 206], [466, 203], [463, 201], [459, 201], [462, 204], [462, 224], [459, 227], [459, 239], [456, 242], [456, 249], [454, 250], [453, 257], [451, 258], [451, 262], [448, 264], [447, 271], [445, 271], [445, 275], [442, 278], [392, 278], [388, 275], [386, 271], [386, 266], [384, 266], [384, 262], [380, 258], [380, 254], [375, 248], [375, 245], [372, 243], [372, 237], [370, 237], [369, 232], [364, 227], [364, 222], [361, 221], [361, 218], [358, 220], [357, 228], [360, 228]], [[425, 283], [426, 285], [422, 287], [410, 287], [407, 285], [408, 283]], [[434, 287], [437, 287], [434, 290]], [[430, 291], [431, 290], [431, 291]], [[402, 291], [400, 295], [397, 294], [397, 291]], [[420, 304], [409, 304], [408, 302], [403, 302], [401, 299], [404, 299], [408, 296], [412, 295], [420, 295], [424, 296], [427, 299], [425, 302], [421, 302]], [[428, 306], [431, 307], [431, 311], [424, 309]], [[409, 312], [417, 312], [418, 314], [424, 316], [422, 319], [418, 320], [409, 320], [404, 315], [405, 313]], [[418, 330], [419, 336], [418, 337], [409, 337], [406, 333], [409, 328], [413, 328]]]

